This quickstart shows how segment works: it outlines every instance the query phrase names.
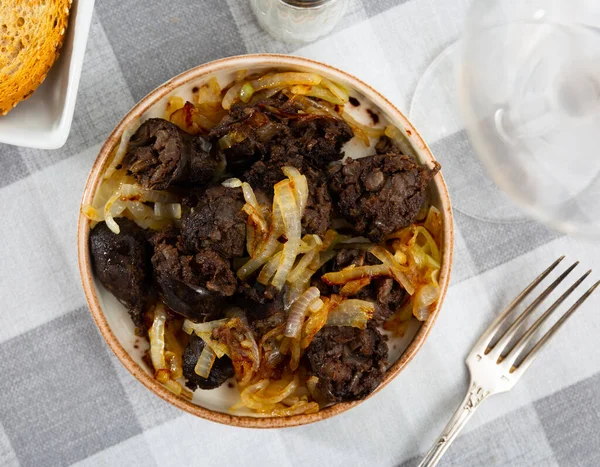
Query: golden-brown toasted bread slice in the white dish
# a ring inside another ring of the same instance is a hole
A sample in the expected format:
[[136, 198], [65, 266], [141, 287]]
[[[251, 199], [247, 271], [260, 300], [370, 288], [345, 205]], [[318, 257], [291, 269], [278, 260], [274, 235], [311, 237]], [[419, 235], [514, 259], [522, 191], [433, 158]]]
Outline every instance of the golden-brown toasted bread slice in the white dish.
[[71, 1], [0, 2], [0, 115], [27, 99], [56, 62]]

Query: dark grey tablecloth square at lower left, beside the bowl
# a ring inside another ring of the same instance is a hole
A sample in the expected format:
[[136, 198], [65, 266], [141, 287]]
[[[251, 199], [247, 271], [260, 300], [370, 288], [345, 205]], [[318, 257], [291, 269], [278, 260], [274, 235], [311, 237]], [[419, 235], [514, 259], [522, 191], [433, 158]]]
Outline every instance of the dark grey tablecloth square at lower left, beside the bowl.
[[86, 308], [0, 345], [0, 374], [21, 465], [68, 465], [141, 433]]

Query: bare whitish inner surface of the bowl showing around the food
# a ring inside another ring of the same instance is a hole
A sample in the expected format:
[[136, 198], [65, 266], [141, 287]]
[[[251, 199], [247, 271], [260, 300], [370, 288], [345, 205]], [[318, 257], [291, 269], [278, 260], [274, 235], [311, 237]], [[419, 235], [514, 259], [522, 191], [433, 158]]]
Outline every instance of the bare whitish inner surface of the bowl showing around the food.
[[[407, 138], [411, 140], [411, 143], [415, 152], [421, 158], [421, 161], [426, 162], [429, 161], [429, 157], [426, 155], [426, 150], [423, 147], [422, 143], [418, 139], [417, 135], [414, 134], [414, 129], [408, 128], [408, 133], [406, 132], [406, 128], [404, 127], [404, 123], [398, 121], [397, 118], [394, 118], [393, 115], [388, 113], [385, 109], [385, 104], [376, 105], [374, 103], [377, 100], [375, 95], [372, 94], [369, 89], [361, 89], [360, 91], [354, 86], [352, 83], [346, 81], [344, 79], [343, 74], [331, 74], [328, 73], [325, 69], [308, 69], [304, 67], [290, 67], [290, 66], [281, 66], [281, 65], [251, 65], [251, 66], [240, 66], [232, 69], [223, 69], [219, 70], [215, 73], [204, 75], [199, 77], [198, 79], [194, 79], [189, 81], [177, 88], [173, 91], [169, 92], [162, 98], [158, 99], [154, 102], [151, 107], [149, 107], [146, 112], [141, 116], [140, 120], [144, 121], [151, 117], [163, 117], [164, 111], [166, 108], [167, 101], [171, 96], [180, 96], [187, 100], [192, 100], [192, 88], [195, 86], [201, 86], [208, 82], [213, 77], [216, 77], [219, 81], [219, 84], [223, 87], [227, 85], [231, 81], [233, 81], [235, 72], [239, 69], [245, 69], [248, 73], [255, 72], [263, 72], [270, 69], [273, 69], [274, 66], [277, 69], [287, 70], [287, 71], [315, 71], [327, 78], [332, 79], [333, 81], [339, 82], [345, 85], [349, 90], [351, 96], [357, 98], [360, 102], [360, 106], [353, 107], [351, 105], [347, 105], [346, 108], [351, 115], [364, 124], [372, 123], [372, 118], [369, 116], [367, 109], [370, 109], [377, 113], [380, 119], [380, 123], [378, 126], [386, 125], [388, 123], [393, 124], [394, 126], [400, 128]], [[349, 141], [344, 147], [346, 154], [349, 157], [357, 158], [361, 156], [365, 156], [374, 152], [373, 144], [371, 148], [366, 149], [364, 144], [358, 140], [358, 138], [354, 137], [351, 141]], [[441, 197], [438, 191], [438, 188], [432, 186], [431, 189], [431, 203], [438, 207], [440, 211], [443, 213], [444, 222], [448, 222], [446, 218], [445, 210], [441, 205]], [[127, 314], [127, 310], [121, 303], [110, 293], [108, 292], [98, 281], [95, 281], [96, 285], [96, 293], [98, 296], [100, 307], [104, 312], [108, 325], [110, 326], [112, 332], [116, 336], [117, 340], [121, 344], [121, 346], [125, 349], [125, 351], [132, 357], [132, 359], [146, 371], [148, 374], [152, 375], [153, 371], [144, 363], [142, 360], [142, 355], [148, 349], [148, 343], [134, 334], [134, 326]], [[414, 336], [417, 334], [421, 323], [417, 320], [413, 319], [411, 324], [408, 327], [407, 332], [402, 338], [393, 338], [388, 333], [389, 341], [389, 366], [391, 366], [395, 361], [397, 361], [402, 353], [406, 350], [409, 344], [412, 342]], [[183, 380], [182, 380], [183, 382]], [[228, 409], [239, 402], [239, 392], [237, 386], [235, 385], [235, 381], [232, 379], [230, 384], [223, 384], [220, 388], [213, 390], [201, 390], [198, 389], [194, 392], [194, 397], [192, 402], [196, 405], [204, 407], [209, 410], [230, 413]], [[248, 415], [248, 416], [256, 416], [250, 411], [236, 411], [235, 414], [239, 415]]]

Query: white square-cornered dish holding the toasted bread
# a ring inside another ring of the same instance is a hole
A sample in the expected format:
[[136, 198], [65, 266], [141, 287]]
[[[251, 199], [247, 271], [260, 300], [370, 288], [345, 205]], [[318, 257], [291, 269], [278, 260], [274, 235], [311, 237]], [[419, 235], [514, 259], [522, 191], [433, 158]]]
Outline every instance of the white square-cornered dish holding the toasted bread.
[[0, 116], [0, 143], [60, 148], [71, 129], [94, 0], [73, 0], [60, 57], [29, 99]]

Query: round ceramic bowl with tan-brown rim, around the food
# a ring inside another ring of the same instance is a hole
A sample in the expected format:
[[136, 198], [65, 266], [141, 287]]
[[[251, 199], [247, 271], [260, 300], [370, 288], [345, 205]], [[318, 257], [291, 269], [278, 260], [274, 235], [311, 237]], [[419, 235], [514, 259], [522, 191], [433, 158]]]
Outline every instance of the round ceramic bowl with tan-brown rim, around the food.
[[[433, 165], [434, 158], [431, 151], [407, 118], [384, 96], [357, 78], [331, 66], [305, 58], [287, 55], [244, 55], [217, 60], [193, 68], [176, 76], [144, 97], [123, 118], [121, 123], [117, 125], [100, 150], [100, 154], [98, 154], [85, 185], [82, 204], [92, 202], [109, 155], [115, 146], [119, 144], [121, 134], [125, 128], [131, 125], [132, 122], [137, 119], [143, 121], [149, 117], [161, 116], [170, 96], [178, 95], [184, 98], [190, 96], [191, 90], [195, 86], [200, 86], [213, 77], [216, 77], [221, 85], [225, 85], [233, 81], [235, 73], [238, 70], [247, 70], [248, 73], [256, 73], [270, 69], [312, 71], [343, 84], [351, 90], [351, 95], [356, 97], [361, 103], [360, 106], [353, 107], [352, 109], [356, 119], [367, 123], [370, 118], [368, 110], [376, 112], [380, 120], [391, 123], [405, 132], [421, 162], [430, 166]], [[351, 106], [349, 105], [348, 107]], [[346, 154], [356, 156], [358, 151], [364, 154], [364, 146], [361, 146], [362, 143], [357, 140], [358, 138], [354, 138], [346, 144], [344, 148]], [[440, 312], [448, 288], [452, 266], [453, 221], [448, 190], [441, 173], [438, 173], [433, 179], [430, 191], [432, 204], [441, 211], [443, 218], [442, 266], [439, 277], [441, 286], [440, 299], [437, 307], [427, 321], [419, 323], [415, 320], [414, 325], [409, 328], [402, 339], [393, 341], [393, 345], [392, 342], [389, 343], [390, 366], [377, 391], [381, 390], [398, 376], [423, 346]], [[349, 410], [360, 403], [360, 401], [356, 401], [336, 404], [323, 408], [318, 413], [311, 415], [264, 418], [252, 416], [250, 413], [248, 415], [232, 415], [228, 413], [228, 409], [237, 402], [238, 390], [235, 387], [228, 387], [227, 384], [212, 391], [197, 390], [194, 393], [192, 401], [172, 394], [153, 378], [153, 372], [143, 362], [142, 354], [147, 348], [147, 343], [135, 336], [133, 323], [125, 308], [95, 280], [88, 248], [89, 234], [89, 221], [80, 214], [78, 226], [79, 268], [83, 289], [92, 316], [109, 347], [114, 351], [123, 365], [144, 386], [167, 402], [208, 420], [253, 428], [279, 428], [312, 423]], [[370, 397], [375, 396], [377, 391], [371, 394]]]

